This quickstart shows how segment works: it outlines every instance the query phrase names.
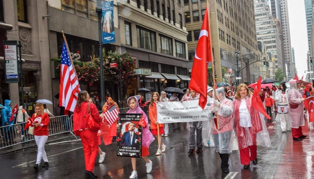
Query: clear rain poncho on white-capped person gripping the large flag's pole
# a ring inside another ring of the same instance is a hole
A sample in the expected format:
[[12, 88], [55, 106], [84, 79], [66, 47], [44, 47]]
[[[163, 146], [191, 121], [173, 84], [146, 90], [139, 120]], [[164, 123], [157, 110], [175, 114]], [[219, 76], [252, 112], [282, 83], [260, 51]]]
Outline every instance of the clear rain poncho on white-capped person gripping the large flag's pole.
[[225, 97], [223, 87], [216, 89], [216, 93], [220, 105], [215, 105], [214, 101], [214, 105], [211, 106], [208, 113], [209, 119], [213, 120], [214, 117], [212, 116], [212, 113], [218, 109], [218, 129], [216, 123], [212, 122], [212, 135], [216, 150], [220, 154], [230, 154], [232, 151], [233, 103], [230, 99]]

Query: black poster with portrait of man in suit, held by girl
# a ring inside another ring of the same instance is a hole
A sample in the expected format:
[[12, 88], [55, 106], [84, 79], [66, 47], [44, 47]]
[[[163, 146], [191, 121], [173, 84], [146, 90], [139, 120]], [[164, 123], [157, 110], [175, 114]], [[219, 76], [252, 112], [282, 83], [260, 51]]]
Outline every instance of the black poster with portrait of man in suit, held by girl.
[[119, 114], [117, 128], [117, 156], [142, 157], [142, 114]]

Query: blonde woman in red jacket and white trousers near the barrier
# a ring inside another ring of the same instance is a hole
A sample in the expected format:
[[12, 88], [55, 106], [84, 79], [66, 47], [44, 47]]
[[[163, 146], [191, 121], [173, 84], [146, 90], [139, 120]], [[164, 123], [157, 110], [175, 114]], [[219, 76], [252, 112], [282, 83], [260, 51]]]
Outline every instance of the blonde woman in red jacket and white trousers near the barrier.
[[37, 145], [37, 160], [34, 165], [34, 169], [38, 170], [41, 158], [44, 161], [43, 168], [48, 167], [48, 159], [45, 151], [45, 144], [48, 139], [49, 131], [49, 115], [44, 112], [44, 106], [42, 103], [35, 104], [35, 113], [31, 117], [34, 126], [34, 138]]

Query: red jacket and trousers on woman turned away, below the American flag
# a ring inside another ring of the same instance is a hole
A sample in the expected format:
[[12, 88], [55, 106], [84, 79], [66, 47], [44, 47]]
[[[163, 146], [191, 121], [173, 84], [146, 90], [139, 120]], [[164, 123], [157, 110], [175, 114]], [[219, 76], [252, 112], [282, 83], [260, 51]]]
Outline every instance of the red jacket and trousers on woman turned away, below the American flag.
[[[95, 104], [90, 102], [91, 115], [95, 121], [101, 122], [101, 117]], [[98, 154], [98, 140], [97, 131], [90, 131], [87, 128], [87, 118], [85, 117], [88, 110], [88, 102], [82, 102], [80, 106], [76, 106], [73, 113], [73, 132], [75, 135], [80, 136], [84, 157], [85, 168], [87, 171], [93, 172], [96, 157]]]

